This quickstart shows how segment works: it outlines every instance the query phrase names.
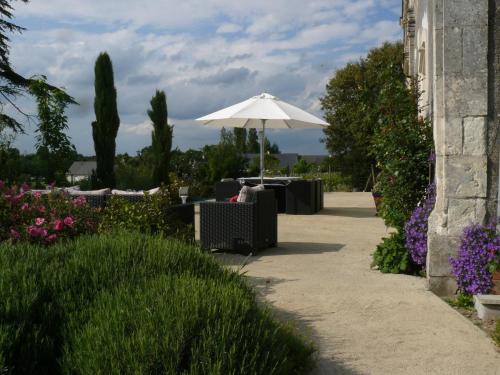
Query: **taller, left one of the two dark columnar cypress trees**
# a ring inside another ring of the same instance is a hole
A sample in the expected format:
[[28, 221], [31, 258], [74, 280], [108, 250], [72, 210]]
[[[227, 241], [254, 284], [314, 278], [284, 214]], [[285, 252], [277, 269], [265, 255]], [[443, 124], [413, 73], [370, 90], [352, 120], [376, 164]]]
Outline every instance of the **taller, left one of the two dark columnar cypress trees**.
[[92, 137], [97, 160], [95, 187], [114, 188], [115, 140], [120, 127], [120, 117], [116, 106], [113, 65], [106, 52], [101, 53], [96, 60], [94, 85], [96, 120], [92, 122]]

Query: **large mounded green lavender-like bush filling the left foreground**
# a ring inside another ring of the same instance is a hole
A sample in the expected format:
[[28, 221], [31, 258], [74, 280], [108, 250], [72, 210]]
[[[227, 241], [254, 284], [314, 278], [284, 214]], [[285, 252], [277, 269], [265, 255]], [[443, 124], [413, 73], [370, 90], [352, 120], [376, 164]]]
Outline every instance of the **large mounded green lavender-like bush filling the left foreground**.
[[139, 233], [0, 245], [7, 373], [300, 374], [311, 346], [209, 254]]

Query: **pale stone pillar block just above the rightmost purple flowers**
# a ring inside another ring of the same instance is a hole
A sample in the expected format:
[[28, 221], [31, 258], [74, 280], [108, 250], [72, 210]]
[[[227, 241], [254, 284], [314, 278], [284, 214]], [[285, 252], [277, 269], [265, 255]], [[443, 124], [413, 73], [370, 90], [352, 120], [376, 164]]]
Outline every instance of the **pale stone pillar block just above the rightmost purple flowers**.
[[485, 217], [486, 199], [448, 200], [448, 234], [450, 236], [460, 237], [467, 225], [484, 223]]

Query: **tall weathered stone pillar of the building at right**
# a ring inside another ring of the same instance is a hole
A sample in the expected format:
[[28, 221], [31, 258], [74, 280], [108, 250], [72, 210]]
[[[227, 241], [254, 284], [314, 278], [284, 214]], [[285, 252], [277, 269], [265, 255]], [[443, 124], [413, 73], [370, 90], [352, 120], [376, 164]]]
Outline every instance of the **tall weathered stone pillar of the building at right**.
[[430, 2], [437, 200], [429, 220], [427, 278], [438, 294], [456, 289], [448, 260], [457, 252], [463, 228], [497, 212], [491, 5], [489, 0]]

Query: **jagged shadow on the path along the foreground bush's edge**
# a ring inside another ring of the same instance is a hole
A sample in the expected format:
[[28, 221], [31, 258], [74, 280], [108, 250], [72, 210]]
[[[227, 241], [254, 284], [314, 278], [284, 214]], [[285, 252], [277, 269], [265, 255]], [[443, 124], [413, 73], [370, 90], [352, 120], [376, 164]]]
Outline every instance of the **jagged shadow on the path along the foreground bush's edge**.
[[[282, 279], [274, 277], [256, 277], [244, 275], [247, 283], [255, 290], [259, 303], [264, 304], [269, 308], [272, 315], [281, 322], [291, 324], [297, 329], [300, 335], [313, 343], [317, 352], [316, 367], [311, 372], [311, 375], [365, 375], [359, 371], [350, 368], [347, 364], [340, 360], [330, 358], [327, 354], [321, 353], [320, 348], [325, 347], [329, 343], [319, 335], [314, 328], [313, 323], [324, 319], [321, 314], [300, 314], [283, 309], [276, 308], [271, 303], [267, 302], [265, 297], [272, 295], [276, 285], [288, 282], [297, 281], [296, 279]], [[331, 340], [331, 339], [330, 339]]]

